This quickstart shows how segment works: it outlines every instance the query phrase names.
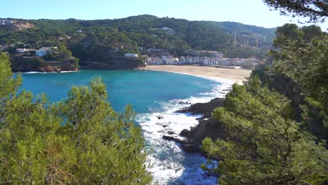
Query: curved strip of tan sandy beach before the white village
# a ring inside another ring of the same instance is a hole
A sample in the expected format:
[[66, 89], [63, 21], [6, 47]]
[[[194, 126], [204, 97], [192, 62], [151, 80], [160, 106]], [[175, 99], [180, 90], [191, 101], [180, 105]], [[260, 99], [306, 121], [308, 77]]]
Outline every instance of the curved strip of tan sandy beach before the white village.
[[188, 66], [188, 65], [156, 65], [147, 66], [140, 69], [153, 71], [168, 71], [180, 74], [190, 74], [207, 78], [225, 79], [232, 83], [241, 84], [250, 76], [251, 70], [247, 69], [228, 69], [210, 66]]

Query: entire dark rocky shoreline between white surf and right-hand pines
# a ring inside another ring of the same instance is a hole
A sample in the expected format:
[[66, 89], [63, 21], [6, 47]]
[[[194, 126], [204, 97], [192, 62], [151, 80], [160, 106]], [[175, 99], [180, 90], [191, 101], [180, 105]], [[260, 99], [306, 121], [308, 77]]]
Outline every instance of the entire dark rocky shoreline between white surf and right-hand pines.
[[192, 127], [190, 130], [184, 129], [179, 133], [179, 136], [184, 137], [184, 139], [173, 137], [169, 132], [168, 135], [163, 135], [163, 139], [177, 142], [186, 152], [199, 153], [202, 156], [208, 157], [201, 149], [203, 139], [210, 137], [216, 140], [226, 137], [225, 124], [212, 118], [212, 112], [217, 107], [223, 107], [224, 100], [224, 98], [217, 97], [207, 103], [191, 104], [190, 107], [177, 110], [177, 113], [202, 114], [203, 116], [198, 118], [196, 127]]

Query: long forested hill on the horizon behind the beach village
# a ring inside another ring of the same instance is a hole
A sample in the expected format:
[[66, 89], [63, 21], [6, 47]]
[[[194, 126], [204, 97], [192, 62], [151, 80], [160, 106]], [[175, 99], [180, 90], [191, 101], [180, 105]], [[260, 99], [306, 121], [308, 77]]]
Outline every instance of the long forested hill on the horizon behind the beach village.
[[237, 22], [189, 21], [153, 15], [114, 20], [21, 21], [29, 22], [33, 28], [11, 31], [0, 26], [0, 44], [22, 42], [37, 48], [61, 41], [82, 60], [83, 56], [79, 56], [83, 53], [82, 49], [107, 50], [121, 46], [129, 52], [137, 52], [139, 47], [143, 47], [170, 50], [172, 55], [184, 55], [184, 51], [192, 48], [219, 50], [226, 57], [261, 58], [271, 47], [275, 34], [275, 28]]

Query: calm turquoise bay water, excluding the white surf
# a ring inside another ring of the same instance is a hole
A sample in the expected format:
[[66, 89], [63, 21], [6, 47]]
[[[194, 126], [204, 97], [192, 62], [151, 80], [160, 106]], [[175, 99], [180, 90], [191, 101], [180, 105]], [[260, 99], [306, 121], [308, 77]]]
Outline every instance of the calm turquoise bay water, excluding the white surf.
[[184, 99], [212, 90], [216, 82], [195, 76], [162, 71], [83, 70], [71, 73], [22, 74], [22, 89], [34, 94], [46, 93], [51, 101], [60, 101], [67, 96], [72, 85], [88, 84], [100, 76], [107, 85], [109, 101], [116, 111], [123, 111], [132, 104], [137, 113], [160, 109], [159, 102]]

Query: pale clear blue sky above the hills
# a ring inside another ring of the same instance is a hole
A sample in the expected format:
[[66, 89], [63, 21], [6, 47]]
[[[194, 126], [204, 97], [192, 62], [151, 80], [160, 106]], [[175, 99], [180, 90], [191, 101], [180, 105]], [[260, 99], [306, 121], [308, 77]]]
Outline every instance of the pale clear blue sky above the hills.
[[[1, 0], [0, 7], [0, 18], [95, 20], [150, 14], [261, 27], [277, 27], [292, 20], [278, 11], [269, 11], [261, 0]], [[319, 26], [327, 30], [328, 22]]]

